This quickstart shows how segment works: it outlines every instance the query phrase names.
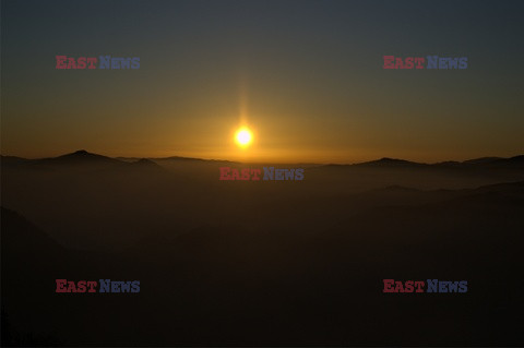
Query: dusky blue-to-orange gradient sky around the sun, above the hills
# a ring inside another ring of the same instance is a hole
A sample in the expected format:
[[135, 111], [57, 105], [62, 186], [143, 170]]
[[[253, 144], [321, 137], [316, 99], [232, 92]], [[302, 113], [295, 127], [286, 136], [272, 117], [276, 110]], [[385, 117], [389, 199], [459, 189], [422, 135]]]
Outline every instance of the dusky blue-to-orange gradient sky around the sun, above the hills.
[[[1, 152], [249, 161], [524, 153], [524, 1], [2, 1]], [[55, 56], [140, 57], [56, 70]], [[382, 56], [468, 57], [383, 70]], [[233, 143], [241, 118], [255, 131]]]

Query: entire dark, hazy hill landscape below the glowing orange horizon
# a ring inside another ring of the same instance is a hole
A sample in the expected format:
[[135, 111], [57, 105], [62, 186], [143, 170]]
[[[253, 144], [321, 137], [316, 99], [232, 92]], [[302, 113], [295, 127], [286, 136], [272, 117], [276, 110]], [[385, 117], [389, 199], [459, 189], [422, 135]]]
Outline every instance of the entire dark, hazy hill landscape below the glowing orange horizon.
[[[1, 160], [2, 344], [523, 341], [522, 156], [317, 165], [302, 182], [222, 182], [204, 159]], [[59, 296], [57, 278], [141, 292]], [[469, 291], [385, 296], [384, 278]]]

